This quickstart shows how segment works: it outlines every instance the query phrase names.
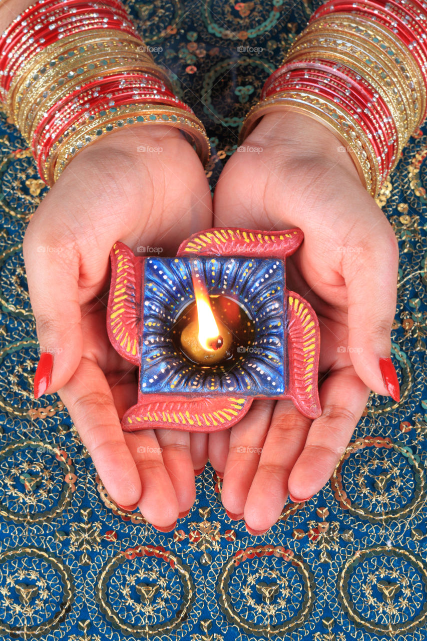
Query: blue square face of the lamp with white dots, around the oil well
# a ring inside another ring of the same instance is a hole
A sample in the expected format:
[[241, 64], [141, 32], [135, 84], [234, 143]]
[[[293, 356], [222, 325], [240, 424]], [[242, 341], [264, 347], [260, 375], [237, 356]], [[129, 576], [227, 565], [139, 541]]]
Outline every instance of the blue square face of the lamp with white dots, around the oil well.
[[187, 256], [146, 259], [141, 392], [283, 395], [287, 387], [283, 260], [244, 256], [197, 259], [210, 296], [239, 301], [254, 320], [251, 345], [238, 345], [237, 357], [219, 367], [188, 362], [172, 340], [183, 306], [194, 301], [192, 263]]

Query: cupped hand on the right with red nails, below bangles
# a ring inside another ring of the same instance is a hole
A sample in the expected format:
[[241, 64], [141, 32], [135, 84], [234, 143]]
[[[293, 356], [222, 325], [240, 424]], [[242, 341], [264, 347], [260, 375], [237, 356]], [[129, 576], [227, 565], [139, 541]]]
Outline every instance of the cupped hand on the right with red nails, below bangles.
[[319, 418], [307, 419], [290, 401], [259, 400], [230, 431], [209, 438], [228, 514], [264, 533], [288, 495], [308, 499], [328, 481], [369, 390], [399, 397], [394, 370], [384, 380], [380, 369], [380, 358], [390, 358], [398, 244], [335, 135], [284, 110], [265, 115], [224, 167], [214, 224], [301, 228], [287, 289], [313, 306], [321, 329]]

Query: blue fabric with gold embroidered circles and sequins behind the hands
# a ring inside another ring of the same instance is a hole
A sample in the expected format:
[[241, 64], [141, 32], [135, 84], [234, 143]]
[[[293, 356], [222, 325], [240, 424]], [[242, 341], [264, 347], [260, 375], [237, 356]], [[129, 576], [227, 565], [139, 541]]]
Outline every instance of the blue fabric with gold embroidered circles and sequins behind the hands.
[[[315, 6], [127, 6], [208, 128], [213, 185]], [[46, 187], [0, 117], [1, 638], [427, 638], [426, 156], [424, 127], [378, 197], [401, 250], [392, 332], [401, 402], [371, 394], [330, 481], [306, 503], [289, 501], [267, 534], [251, 537], [227, 517], [209, 465], [188, 516], [162, 534], [113, 503], [59, 397], [33, 399], [38, 342], [22, 238]]]

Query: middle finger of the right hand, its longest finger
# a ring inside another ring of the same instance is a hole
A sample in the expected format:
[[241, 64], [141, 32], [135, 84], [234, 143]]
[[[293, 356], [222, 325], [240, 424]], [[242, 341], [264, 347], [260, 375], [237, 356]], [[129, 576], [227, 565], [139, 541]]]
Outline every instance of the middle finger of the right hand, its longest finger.
[[299, 413], [291, 401], [276, 404], [244, 506], [249, 533], [264, 534], [280, 517], [288, 496], [290, 471], [304, 447], [311, 424], [312, 420]]

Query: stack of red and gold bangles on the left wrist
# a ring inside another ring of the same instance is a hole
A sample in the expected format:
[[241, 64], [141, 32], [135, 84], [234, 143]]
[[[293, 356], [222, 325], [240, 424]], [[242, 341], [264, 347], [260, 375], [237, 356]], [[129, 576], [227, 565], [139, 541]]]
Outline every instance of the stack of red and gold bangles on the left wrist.
[[3, 33], [0, 52], [0, 99], [47, 185], [88, 144], [134, 124], [178, 127], [207, 162], [203, 124], [119, 0], [39, 0]]

